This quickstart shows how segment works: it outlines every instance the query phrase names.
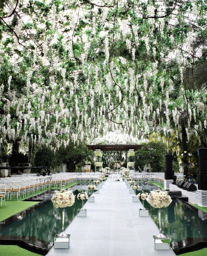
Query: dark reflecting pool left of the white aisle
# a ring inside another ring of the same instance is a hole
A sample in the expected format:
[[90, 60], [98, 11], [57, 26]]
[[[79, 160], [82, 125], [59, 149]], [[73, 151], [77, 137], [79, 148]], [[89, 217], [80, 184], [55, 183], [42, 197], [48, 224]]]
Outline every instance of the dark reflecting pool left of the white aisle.
[[[73, 190], [76, 196], [79, 192], [80, 190]], [[35, 197], [35, 200], [39, 198], [44, 201], [0, 225], [0, 239], [23, 240], [40, 248], [51, 248], [55, 234], [60, 233], [62, 228], [61, 209], [54, 208], [50, 201], [53, 194], [53, 191], [49, 191]], [[65, 208], [65, 228], [76, 216], [77, 209], [81, 207], [82, 202], [75, 197], [73, 206]]]

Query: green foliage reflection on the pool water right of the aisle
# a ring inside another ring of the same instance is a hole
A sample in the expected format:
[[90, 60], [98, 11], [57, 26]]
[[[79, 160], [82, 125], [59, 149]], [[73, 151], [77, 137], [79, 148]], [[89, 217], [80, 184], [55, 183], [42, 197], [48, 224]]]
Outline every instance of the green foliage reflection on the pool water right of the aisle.
[[[150, 216], [159, 227], [158, 209], [147, 202], [145, 207], [149, 209]], [[192, 211], [177, 199], [173, 200], [169, 207], [162, 208], [161, 218], [163, 233], [169, 236], [173, 249], [191, 244], [191, 238], [200, 238], [200, 241], [207, 238], [207, 220], [202, 221], [197, 209]]]

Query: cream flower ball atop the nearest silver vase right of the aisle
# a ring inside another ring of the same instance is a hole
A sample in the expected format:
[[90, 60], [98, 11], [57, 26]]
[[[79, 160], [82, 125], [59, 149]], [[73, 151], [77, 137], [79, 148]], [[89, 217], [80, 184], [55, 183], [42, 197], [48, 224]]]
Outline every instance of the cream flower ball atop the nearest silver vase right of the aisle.
[[168, 193], [161, 190], [153, 190], [146, 200], [154, 208], [168, 207], [172, 202]]

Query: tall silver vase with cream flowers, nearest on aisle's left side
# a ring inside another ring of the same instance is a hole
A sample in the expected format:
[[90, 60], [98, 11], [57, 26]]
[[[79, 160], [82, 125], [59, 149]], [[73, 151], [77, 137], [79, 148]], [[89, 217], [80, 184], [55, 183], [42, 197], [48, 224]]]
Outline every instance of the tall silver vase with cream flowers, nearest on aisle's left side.
[[72, 206], [75, 203], [75, 196], [72, 193], [72, 190], [65, 190], [64, 187], [60, 190], [54, 191], [54, 195], [51, 198], [53, 206], [55, 208], [62, 209], [62, 232], [58, 234], [58, 237], [68, 237], [64, 232], [64, 222], [65, 222], [65, 207]]

